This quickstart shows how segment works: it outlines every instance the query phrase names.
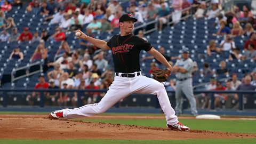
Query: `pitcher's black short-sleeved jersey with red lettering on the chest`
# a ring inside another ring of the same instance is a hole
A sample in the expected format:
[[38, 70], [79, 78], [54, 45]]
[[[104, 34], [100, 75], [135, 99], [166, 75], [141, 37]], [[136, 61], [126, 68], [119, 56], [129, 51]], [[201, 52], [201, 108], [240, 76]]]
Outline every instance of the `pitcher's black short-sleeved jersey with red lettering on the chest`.
[[149, 51], [153, 47], [144, 39], [132, 34], [114, 35], [107, 45], [112, 51], [115, 72], [125, 74], [140, 71], [140, 51]]

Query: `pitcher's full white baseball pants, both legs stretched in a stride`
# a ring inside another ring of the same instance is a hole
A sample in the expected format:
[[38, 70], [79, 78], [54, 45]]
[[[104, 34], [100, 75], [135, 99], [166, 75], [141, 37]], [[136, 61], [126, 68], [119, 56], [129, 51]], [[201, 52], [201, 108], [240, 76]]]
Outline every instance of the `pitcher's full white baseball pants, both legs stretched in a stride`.
[[115, 81], [110, 85], [106, 95], [99, 103], [74, 109], [63, 109], [63, 117], [77, 118], [103, 113], [115, 105], [116, 102], [132, 93], [157, 95], [160, 106], [164, 111], [167, 124], [174, 125], [179, 122], [178, 117], [175, 116], [174, 109], [171, 107], [164, 85], [153, 78], [142, 75], [132, 78], [115, 76]]

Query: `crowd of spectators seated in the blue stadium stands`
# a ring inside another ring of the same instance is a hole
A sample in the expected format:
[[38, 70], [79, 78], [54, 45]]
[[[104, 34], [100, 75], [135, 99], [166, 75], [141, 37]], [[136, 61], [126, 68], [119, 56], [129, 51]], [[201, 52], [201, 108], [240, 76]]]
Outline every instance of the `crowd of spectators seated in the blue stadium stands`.
[[[171, 5], [170, 5], [171, 4]], [[211, 1], [210, 6], [202, 1], [189, 1], [189, 0], [173, 0], [168, 3], [164, 0], [151, 0], [151, 1], [134, 1], [130, 0], [125, 7], [122, 7], [118, 0], [107, 1], [31, 1], [25, 8], [28, 13], [35, 15], [43, 15], [44, 20], [42, 23], [49, 23], [54, 25], [55, 32], [50, 35], [50, 31], [42, 29], [41, 31], [31, 31], [29, 27], [24, 27], [21, 33], [17, 30], [16, 23], [13, 18], [5, 17], [5, 12], [8, 12], [12, 7], [23, 6], [23, 3], [18, 0], [1, 1], [0, 11], [0, 28], [2, 33], [0, 35], [0, 42], [22, 42], [31, 41], [39, 42], [34, 50], [31, 61], [44, 59], [49, 69], [45, 76], [39, 77], [39, 83], [36, 89], [108, 89], [113, 82], [114, 72], [110, 67], [108, 61], [105, 59], [106, 53], [95, 54], [97, 47], [91, 43], [80, 39], [79, 50], [71, 50], [70, 43], [66, 41], [66, 32], [83, 29], [89, 36], [94, 36], [94, 33], [111, 33], [119, 28], [118, 20], [124, 13], [131, 13], [133, 17], [138, 19], [137, 23], [143, 23], [150, 19], [158, 20], [158, 30], [162, 31], [167, 22], [172, 21], [175, 25], [181, 20], [181, 15], [186, 16], [193, 14], [196, 19], [216, 19], [215, 25], [218, 30], [214, 36], [223, 37], [222, 41], [211, 39], [209, 45], [205, 47], [206, 57], [215, 57], [217, 54], [231, 52], [228, 60], [256, 60], [256, 34], [255, 34], [255, 15], [252, 14], [250, 7], [243, 6], [239, 10], [235, 6], [232, 11], [223, 13], [220, 9], [219, 1]], [[187, 9], [194, 6], [192, 10]], [[197, 7], [198, 6], [198, 7]], [[181, 11], [182, 9], [187, 9]], [[8, 31], [11, 30], [11, 34]], [[139, 31], [139, 36], [145, 40], [143, 31]], [[247, 37], [243, 47], [237, 47], [234, 41], [236, 37]], [[45, 42], [61, 42], [56, 55], [58, 59], [52, 62], [47, 61], [48, 49]], [[13, 52], [10, 54], [9, 59], [23, 60], [23, 53], [20, 51], [19, 46], [13, 47]], [[165, 48], [160, 47], [159, 52], [172, 63], [172, 60], [180, 59], [179, 55], [169, 57], [165, 54]], [[142, 60], [153, 59], [153, 57], [145, 57]], [[158, 68], [161, 65], [157, 60], [151, 63], [151, 69]], [[244, 90], [249, 83], [249, 76], [247, 76], [247, 85], [245, 79], [241, 79], [241, 83], [236, 77], [236, 74], [230, 73], [230, 69], [226, 67], [225, 61], [220, 62], [220, 68], [213, 70], [210, 63], [205, 63], [203, 70], [200, 71], [204, 76], [213, 75], [230, 75], [230, 81], [225, 84], [212, 78], [210, 85], [206, 86], [206, 90]], [[197, 66], [195, 66], [195, 71]], [[251, 71], [250, 71], [251, 72]], [[151, 71], [148, 72], [149, 74]], [[249, 74], [250, 75], [250, 74]], [[255, 86], [256, 74], [252, 72], [251, 85]], [[245, 77], [246, 77], [245, 76]], [[47, 83], [47, 84], [46, 84]], [[169, 84], [169, 83], [167, 83]], [[239, 86], [244, 84], [245, 86]], [[238, 88], [239, 87], [239, 88]], [[166, 87], [167, 90], [175, 90], [175, 79], [170, 80], [170, 86]], [[252, 87], [250, 87], [252, 89]], [[78, 93], [54, 93], [49, 92], [47, 95], [47, 102], [53, 105], [67, 105], [68, 101], [75, 106]], [[30, 104], [33, 105], [33, 99], [37, 93], [28, 95]], [[84, 104], [99, 101], [103, 97], [103, 93], [91, 92], [82, 94], [82, 101]], [[222, 100], [227, 100], [225, 94], [215, 96], [214, 104], [216, 107]], [[237, 100], [237, 97], [234, 96]], [[34, 99], [35, 100], [35, 99]], [[208, 107], [207, 97], [205, 96], [205, 103], [203, 108]], [[207, 105], [207, 106], [206, 106]], [[230, 102], [227, 104], [230, 107]]]

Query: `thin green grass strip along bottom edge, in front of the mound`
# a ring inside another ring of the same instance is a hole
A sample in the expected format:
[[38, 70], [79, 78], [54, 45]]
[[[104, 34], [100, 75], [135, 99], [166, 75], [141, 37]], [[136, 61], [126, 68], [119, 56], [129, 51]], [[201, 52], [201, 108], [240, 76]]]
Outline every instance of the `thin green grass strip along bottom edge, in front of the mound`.
[[119, 143], [256, 143], [256, 139], [214, 139], [214, 140], [95, 140], [95, 139], [88, 139], [88, 140], [80, 140], [80, 139], [74, 139], [74, 140], [0, 140], [0, 143], [93, 143], [93, 144], [101, 144], [101, 143], [113, 143], [113, 144], [119, 144]]

